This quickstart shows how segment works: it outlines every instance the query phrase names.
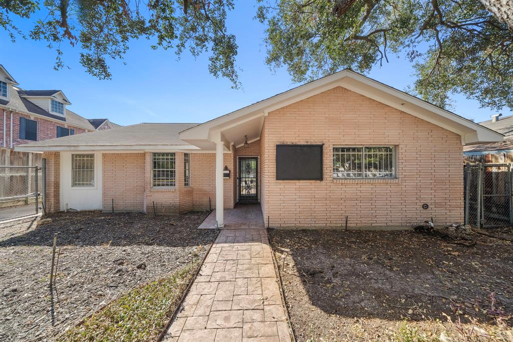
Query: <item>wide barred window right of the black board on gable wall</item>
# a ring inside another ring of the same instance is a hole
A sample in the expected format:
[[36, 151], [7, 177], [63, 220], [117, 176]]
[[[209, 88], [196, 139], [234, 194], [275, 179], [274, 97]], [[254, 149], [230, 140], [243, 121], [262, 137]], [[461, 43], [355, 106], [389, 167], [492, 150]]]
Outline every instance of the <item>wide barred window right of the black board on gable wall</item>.
[[333, 147], [333, 178], [395, 178], [394, 146]]

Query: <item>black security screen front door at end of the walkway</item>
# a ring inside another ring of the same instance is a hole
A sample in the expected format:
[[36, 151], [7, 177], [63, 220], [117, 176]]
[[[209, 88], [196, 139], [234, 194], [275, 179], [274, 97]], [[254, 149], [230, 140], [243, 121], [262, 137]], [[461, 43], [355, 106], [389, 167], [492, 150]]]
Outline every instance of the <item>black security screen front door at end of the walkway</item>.
[[258, 202], [258, 159], [239, 158], [239, 202]]

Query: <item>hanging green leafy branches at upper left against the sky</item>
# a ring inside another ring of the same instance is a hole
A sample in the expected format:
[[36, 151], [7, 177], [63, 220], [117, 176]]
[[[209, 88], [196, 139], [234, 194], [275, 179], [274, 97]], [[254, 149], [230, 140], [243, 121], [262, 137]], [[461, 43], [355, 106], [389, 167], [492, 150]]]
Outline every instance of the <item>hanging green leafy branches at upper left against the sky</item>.
[[[0, 25], [13, 41], [23, 32], [12, 24], [12, 16], [30, 18], [39, 4], [37, 0], [0, 3]], [[123, 59], [131, 40], [156, 37], [154, 49], [175, 48], [178, 55], [189, 50], [193, 56], [210, 52], [209, 71], [239, 86], [238, 46], [225, 24], [227, 11], [233, 9], [231, 0], [150, 0], [146, 5], [129, 0], [45, 0], [43, 6], [42, 18], [28, 33], [56, 50], [56, 69], [65, 65], [60, 45], [69, 43], [82, 50], [80, 62], [87, 72], [110, 79], [109, 59]]]

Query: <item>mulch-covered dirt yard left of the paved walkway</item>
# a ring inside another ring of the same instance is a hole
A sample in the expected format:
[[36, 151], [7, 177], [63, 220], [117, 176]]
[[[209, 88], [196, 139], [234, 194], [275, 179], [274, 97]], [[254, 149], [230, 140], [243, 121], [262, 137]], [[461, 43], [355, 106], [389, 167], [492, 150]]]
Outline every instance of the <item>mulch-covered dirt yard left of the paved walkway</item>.
[[[0, 225], [0, 340], [47, 340], [121, 294], [202, 257], [218, 231], [207, 213], [179, 217], [61, 213]], [[53, 235], [58, 257], [49, 291]], [[196, 258], [197, 259], [197, 258]]]

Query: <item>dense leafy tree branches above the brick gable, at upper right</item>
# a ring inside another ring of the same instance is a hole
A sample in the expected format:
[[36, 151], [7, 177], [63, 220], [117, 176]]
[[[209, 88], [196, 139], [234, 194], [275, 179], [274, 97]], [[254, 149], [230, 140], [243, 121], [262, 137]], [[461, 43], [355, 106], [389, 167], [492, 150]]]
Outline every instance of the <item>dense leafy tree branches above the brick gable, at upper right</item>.
[[[352, 4], [341, 14], [340, 3]], [[415, 63], [413, 92], [427, 101], [450, 107], [456, 92], [513, 108], [513, 32], [478, 0], [280, 0], [257, 17], [268, 25], [266, 62], [286, 66], [294, 81], [366, 73], [391, 51]]]

